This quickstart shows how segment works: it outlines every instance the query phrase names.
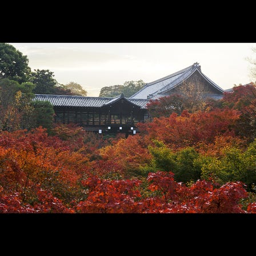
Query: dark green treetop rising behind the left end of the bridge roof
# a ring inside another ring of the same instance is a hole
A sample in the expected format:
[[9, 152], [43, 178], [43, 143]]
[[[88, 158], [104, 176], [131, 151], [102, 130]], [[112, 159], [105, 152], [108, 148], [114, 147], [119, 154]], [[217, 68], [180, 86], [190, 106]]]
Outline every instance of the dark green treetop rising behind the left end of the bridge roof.
[[49, 69], [47, 70], [34, 70], [31, 73], [30, 81], [34, 83], [34, 93], [37, 94], [54, 94], [54, 86], [57, 81], [54, 79], [54, 74]]

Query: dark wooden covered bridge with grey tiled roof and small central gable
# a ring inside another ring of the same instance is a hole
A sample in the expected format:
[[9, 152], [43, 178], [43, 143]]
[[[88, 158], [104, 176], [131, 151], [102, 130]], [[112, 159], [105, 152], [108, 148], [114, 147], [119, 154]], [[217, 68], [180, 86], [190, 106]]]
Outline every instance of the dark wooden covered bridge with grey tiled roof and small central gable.
[[136, 124], [149, 118], [149, 99], [83, 97], [73, 95], [35, 94], [34, 101], [49, 101], [55, 111], [55, 123], [76, 123], [87, 131], [98, 133], [136, 133]]

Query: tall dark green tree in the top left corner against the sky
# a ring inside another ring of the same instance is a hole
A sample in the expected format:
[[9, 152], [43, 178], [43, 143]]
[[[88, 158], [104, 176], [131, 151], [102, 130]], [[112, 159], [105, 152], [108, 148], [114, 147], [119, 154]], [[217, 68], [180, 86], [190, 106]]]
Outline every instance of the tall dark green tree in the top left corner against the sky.
[[31, 69], [29, 59], [9, 43], [0, 43], [0, 79], [27, 82]]

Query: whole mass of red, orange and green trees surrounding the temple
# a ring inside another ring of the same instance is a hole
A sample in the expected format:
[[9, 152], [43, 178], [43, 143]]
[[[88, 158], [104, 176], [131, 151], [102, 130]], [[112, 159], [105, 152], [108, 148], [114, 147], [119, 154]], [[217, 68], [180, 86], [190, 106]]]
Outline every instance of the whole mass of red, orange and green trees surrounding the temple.
[[51, 105], [31, 103], [50, 71], [31, 82], [22, 59], [19, 73], [0, 58], [0, 213], [256, 213], [255, 83], [161, 98], [140, 133], [106, 137], [53, 124]]

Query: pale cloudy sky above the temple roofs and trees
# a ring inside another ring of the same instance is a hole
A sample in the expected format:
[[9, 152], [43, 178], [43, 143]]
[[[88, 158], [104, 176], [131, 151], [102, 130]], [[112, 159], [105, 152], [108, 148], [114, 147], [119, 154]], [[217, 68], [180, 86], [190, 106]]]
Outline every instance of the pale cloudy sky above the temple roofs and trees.
[[82, 85], [87, 96], [126, 81], [153, 82], [198, 62], [222, 89], [255, 82], [246, 57], [256, 43], [10, 43], [31, 70], [49, 69], [59, 83]]

